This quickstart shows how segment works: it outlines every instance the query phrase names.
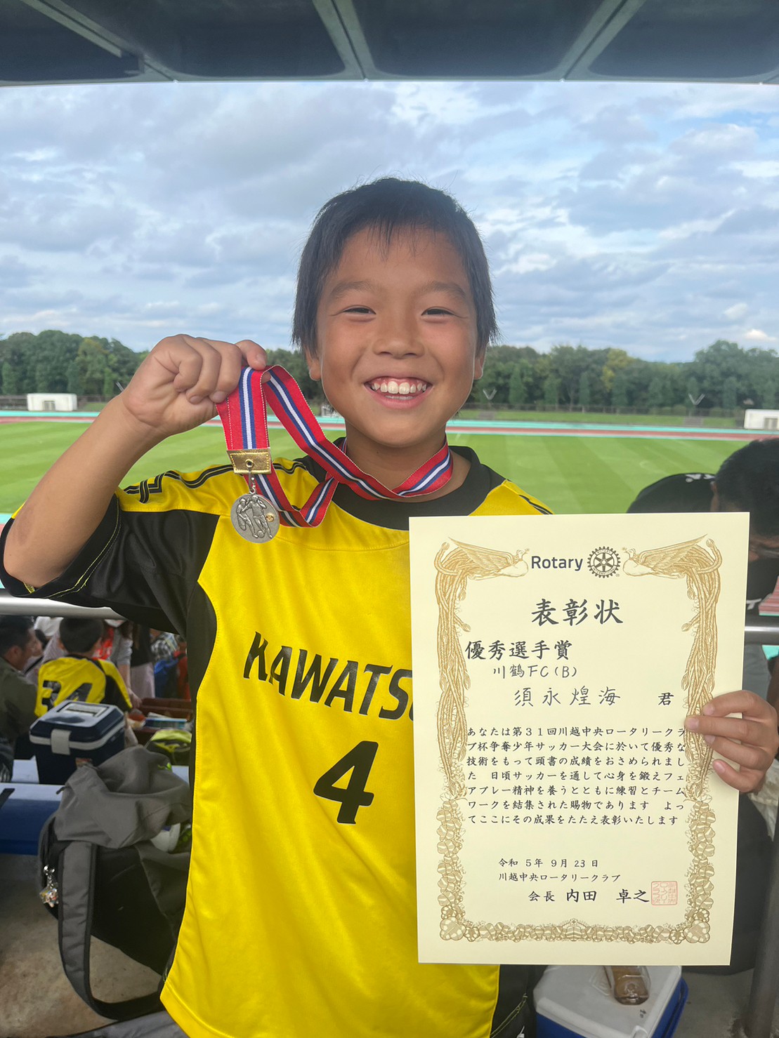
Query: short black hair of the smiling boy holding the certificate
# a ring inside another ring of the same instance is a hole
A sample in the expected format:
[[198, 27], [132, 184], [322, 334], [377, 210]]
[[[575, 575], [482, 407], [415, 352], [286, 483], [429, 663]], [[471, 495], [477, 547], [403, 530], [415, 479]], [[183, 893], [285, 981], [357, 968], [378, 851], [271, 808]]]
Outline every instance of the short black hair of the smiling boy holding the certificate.
[[344, 246], [370, 228], [385, 246], [398, 230], [445, 235], [462, 261], [476, 307], [477, 349], [498, 334], [492, 283], [484, 245], [474, 221], [446, 191], [395, 176], [361, 184], [335, 195], [317, 214], [300, 255], [292, 339], [310, 353], [317, 346], [317, 307], [324, 282], [338, 267]]

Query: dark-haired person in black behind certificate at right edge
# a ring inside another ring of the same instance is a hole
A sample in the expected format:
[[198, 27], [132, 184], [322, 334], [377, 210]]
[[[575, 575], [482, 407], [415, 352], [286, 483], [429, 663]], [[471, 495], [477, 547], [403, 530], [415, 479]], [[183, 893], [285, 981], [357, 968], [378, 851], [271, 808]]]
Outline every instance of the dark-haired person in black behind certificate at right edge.
[[[759, 613], [779, 579], [779, 437], [752, 440], [716, 475], [667, 475], [645, 487], [628, 512], [748, 512], [747, 619]], [[760, 646], [745, 646], [743, 687], [779, 701], [779, 667], [769, 672]]]

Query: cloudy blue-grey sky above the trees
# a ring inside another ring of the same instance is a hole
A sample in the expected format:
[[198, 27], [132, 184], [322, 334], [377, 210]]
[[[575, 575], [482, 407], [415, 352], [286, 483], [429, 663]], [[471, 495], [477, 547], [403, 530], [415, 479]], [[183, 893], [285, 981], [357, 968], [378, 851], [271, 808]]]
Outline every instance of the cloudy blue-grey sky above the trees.
[[779, 86], [149, 83], [0, 90], [0, 335], [288, 347], [319, 207], [455, 195], [501, 340], [779, 348]]

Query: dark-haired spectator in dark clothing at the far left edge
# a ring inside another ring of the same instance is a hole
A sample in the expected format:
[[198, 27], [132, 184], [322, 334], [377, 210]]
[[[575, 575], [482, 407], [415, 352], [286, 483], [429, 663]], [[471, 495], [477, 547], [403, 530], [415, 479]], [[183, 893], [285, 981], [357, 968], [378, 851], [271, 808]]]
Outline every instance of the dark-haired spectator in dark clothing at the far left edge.
[[0, 782], [14, 771], [14, 742], [35, 719], [35, 686], [24, 678], [41, 655], [32, 617], [0, 617]]

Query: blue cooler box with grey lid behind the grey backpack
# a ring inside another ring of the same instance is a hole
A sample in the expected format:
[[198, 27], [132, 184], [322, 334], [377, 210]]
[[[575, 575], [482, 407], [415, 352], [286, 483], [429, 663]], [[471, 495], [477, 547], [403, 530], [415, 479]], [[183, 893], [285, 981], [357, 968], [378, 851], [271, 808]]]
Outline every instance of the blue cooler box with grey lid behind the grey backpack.
[[61, 785], [79, 764], [102, 764], [125, 748], [125, 715], [105, 703], [66, 700], [30, 728], [38, 781]]

